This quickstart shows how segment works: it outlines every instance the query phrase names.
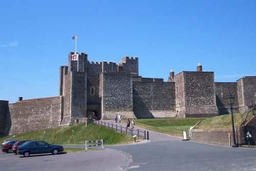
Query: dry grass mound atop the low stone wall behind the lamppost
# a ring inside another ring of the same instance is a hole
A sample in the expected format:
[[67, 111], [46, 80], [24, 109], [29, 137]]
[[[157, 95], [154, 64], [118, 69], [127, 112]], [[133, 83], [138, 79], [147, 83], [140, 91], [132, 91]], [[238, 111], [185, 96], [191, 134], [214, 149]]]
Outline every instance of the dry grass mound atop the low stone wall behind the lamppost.
[[[241, 113], [233, 114], [234, 118], [234, 127], [240, 127], [242, 124]], [[211, 128], [231, 128], [232, 120], [231, 115], [220, 115], [215, 117], [209, 117], [195, 127], [195, 129], [211, 129]]]

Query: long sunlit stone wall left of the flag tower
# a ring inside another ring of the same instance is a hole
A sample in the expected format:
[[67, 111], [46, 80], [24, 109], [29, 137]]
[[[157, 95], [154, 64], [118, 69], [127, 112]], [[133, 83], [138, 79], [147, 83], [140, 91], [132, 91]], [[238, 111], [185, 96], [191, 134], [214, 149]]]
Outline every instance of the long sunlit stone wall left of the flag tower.
[[11, 130], [9, 135], [56, 128], [60, 124], [61, 98], [9, 104]]

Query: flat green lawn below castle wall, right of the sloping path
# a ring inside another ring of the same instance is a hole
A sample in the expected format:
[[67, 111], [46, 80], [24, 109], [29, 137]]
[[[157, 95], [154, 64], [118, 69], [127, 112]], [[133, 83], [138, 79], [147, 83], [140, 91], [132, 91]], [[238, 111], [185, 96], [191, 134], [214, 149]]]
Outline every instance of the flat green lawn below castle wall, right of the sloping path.
[[[168, 135], [183, 137], [183, 131], [195, 126], [206, 118], [161, 118], [136, 119], [136, 126]], [[188, 135], [188, 133], [187, 133]]]

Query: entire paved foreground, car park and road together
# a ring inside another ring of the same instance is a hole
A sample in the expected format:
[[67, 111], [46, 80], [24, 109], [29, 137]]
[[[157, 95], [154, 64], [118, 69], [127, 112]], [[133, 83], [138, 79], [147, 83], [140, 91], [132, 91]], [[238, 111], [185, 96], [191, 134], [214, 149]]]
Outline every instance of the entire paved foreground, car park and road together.
[[150, 137], [147, 143], [104, 146], [106, 150], [72, 154], [24, 158], [0, 153], [0, 170], [256, 170], [256, 149], [182, 141], [155, 132]]

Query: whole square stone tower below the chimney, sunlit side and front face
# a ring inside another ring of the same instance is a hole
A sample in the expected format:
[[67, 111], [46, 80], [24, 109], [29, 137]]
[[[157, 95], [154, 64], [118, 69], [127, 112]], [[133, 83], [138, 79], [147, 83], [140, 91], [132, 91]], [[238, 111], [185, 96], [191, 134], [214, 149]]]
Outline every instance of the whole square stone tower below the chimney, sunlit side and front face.
[[178, 117], [218, 115], [214, 72], [183, 71], [175, 76]]

